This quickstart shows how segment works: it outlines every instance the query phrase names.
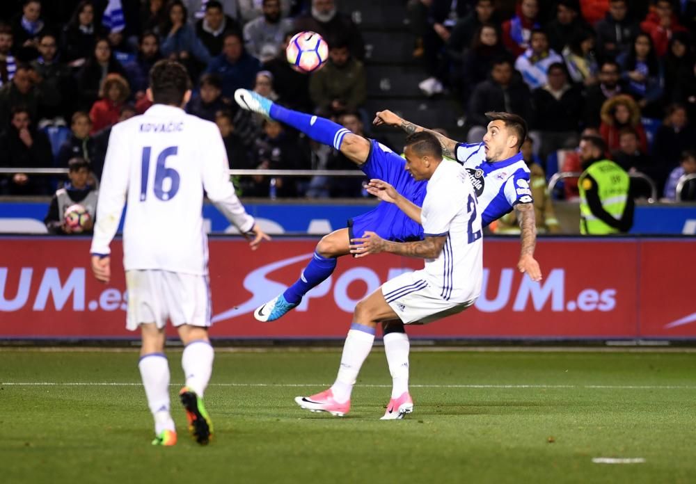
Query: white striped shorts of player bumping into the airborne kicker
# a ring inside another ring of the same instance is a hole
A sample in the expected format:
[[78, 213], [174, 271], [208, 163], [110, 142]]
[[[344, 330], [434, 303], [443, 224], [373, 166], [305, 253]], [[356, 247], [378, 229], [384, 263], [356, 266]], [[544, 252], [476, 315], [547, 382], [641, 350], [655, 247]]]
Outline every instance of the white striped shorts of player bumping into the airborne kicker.
[[382, 296], [404, 324], [426, 324], [464, 311], [475, 300], [445, 300], [442, 289], [433, 287], [425, 271], [403, 273], [382, 284]]

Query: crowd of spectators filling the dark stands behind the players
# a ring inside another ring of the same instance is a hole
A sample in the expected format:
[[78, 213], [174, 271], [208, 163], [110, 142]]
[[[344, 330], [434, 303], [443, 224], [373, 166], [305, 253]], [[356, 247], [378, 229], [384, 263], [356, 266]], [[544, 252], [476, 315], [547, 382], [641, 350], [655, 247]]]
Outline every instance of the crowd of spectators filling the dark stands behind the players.
[[[350, 8], [333, 0], [3, 1], [0, 166], [67, 168], [80, 157], [99, 179], [111, 126], [150, 106], [148, 71], [173, 58], [194, 80], [186, 110], [218, 124], [230, 168], [352, 169], [337, 151], [232, 100], [235, 89], [252, 88], [352, 131], [369, 129], [370, 67]], [[485, 112], [509, 111], [530, 125], [525, 158], [541, 179], [580, 171], [576, 148], [587, 134], [664, 197], [696, 171], [696, 1], [410, 0], [406, 10], [422, 62], [413, 69], [427, 77], [420, 90], [456, 100], [469, 142], [482, 138]], [[327, 65], [309, 75], [285, 60], [288, 40], [306, 30], [330, 47]], [[559, 150], [568, 150], [562, 159]], [[361, 184], [340, 180], [238, 182], [245, 196], [361, 196]], [[47, 195], [52, 187], [17, 173], [0, 191]], [[566, 192], [577, 194], [571, 183]]]

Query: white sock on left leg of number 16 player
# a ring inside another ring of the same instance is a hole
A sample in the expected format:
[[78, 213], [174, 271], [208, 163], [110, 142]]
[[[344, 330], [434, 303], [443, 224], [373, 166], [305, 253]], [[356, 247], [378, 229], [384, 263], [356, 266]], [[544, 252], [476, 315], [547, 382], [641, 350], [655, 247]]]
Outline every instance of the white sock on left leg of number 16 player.
[[175, 430], [169, 413], [169, 364], [162, 353], [143, 355], [138, 362], [148, 407], [155, 417], [155, 434]]

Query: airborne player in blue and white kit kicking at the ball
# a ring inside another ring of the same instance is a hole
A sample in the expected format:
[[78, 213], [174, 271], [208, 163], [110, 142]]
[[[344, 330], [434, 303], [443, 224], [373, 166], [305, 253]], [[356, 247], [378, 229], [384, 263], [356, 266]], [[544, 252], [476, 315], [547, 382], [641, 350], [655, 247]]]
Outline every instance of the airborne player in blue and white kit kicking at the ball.
[[[416, 181], [404, 170], [404, 159], [377, 141], [352, 134], [348, 129], [325, 118], [299, 113], [278, 106], [255, 92], [237, 89], [235, 100], [242, 108], [285, 122], [304, 134], [340, 150], [370, 178], [381, 179], [418, 205], [425, 197], [426, 181]], [[489, 142], [464, 145], [445, 136], [402, 120], [390, 111], [377, 113], [375, 124], [401, 126], [408, 133], [429, 131], [443, 148], [443, 154], [464, 163], [483, 207], [483, 223], [489, 225], [515, 207], [521, 215], [523, 248], [519, 270], [529, 273], [533, 280], [541, 278], [539, 264], [533, 257], [536, 239], [534, 210], [529, 188], [529, 170], [519, 154], [519, 145], [526, 136], [522, 118], [507, 113], [491, 113]], [[495, 118], [495, 119], [493, 119]], [[489, 147], [487, 147], [489, 145]], [[503, 157], [505, 154], [505, 157]], [[493, 176], [490, 176], [493, 175]], [[487, 183], [487, 179], [491, 179]], [[483, 197], [483, 198], [482, 198]], [[483, 202], [483, 203], [482, 203]], [[402, 211], [386, 202], [373, 210], [349, 220], [349, 226], [324, 236], [301, 277], [285, 292], [260, 306], [254, 312], [258, 321], [275, 321], [299, 305], [302, 297], [333, 273], [336, 259], [349, 255], [349, 240], [360, 237], [365, 230], [376, 232], [383, 239], [404, 242], [422, 239], [420, 225]]]

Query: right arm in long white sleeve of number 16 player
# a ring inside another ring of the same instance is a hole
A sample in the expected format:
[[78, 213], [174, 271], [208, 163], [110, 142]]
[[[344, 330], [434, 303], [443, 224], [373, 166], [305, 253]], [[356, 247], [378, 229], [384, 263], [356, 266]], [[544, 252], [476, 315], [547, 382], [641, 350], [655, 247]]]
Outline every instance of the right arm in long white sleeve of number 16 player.
[[263, 240], [270, 240], [254, 218], [246, 213], [239, 201], [235, 186], [230, 181], [228, 160], [219, 131], [214, 124], [207, 126], [207, 136], [203, 138], [203, 188], [209, 200], [247, 239], [251, 239], [251, 249], [255, 250]]

